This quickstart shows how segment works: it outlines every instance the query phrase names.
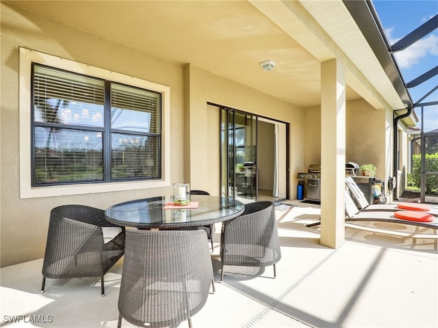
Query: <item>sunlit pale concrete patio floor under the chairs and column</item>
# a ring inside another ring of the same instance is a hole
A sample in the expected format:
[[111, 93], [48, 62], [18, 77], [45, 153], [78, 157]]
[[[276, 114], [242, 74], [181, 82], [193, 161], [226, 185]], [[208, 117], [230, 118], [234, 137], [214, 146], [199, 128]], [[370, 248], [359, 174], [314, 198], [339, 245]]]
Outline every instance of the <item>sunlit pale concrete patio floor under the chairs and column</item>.
[[[209, 327], [438, 327], [438, 253], [430, 239], [346, 227], [337, 249], [320, 245], [320, 208], [285, 201], [276, 210], [282, 258], [272, 267], [225, 267], [220, 283], [219, 234], [212, 253], [216, 293], [192, 317]], [[394, 223], [364, 223], [394, 232]], [[216, 229], [220, 232], [220, 228]], [[431, 233], [431, 232], [430, 232]], [[98, 278], [47, 279], [42, 259], [0, 269], [1, 327], [117, 327], [123, 258]], [[122, 327], [133, 327], [123, 320]], [[187, 322], [178, 327], [188, 327]]]

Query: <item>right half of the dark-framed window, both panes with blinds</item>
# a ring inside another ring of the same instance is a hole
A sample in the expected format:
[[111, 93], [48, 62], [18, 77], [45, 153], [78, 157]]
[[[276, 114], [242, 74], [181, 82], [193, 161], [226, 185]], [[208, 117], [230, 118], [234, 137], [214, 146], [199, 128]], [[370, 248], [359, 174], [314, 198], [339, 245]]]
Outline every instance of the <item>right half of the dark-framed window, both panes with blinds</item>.
[[161, 94], [112, 83], [112, 180], [159, 178]]

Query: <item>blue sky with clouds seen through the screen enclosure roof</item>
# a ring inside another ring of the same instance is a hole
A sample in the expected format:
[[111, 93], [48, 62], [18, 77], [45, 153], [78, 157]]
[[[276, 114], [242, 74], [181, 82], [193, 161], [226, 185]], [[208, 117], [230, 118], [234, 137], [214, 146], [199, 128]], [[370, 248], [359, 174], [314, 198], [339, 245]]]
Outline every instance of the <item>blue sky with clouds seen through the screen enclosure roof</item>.
[[[437, 0], [372, 0], [389, 44], [394, 44], [427, 20], [438, 14]], [[404, 83], [438, 66], [438, 29], [418, 40], [407, 49], [394, 54]], [[413, 102], [425, 96], [438, 85], [438, 76], [428, 79], [417, 87], [408, 89]], [[438, 101], [438, 90], [422, 102]], [[424, 107], [424, 132], [438, 129], [438, 105]], [[415, 107], [421, 128], [421, 107]]]

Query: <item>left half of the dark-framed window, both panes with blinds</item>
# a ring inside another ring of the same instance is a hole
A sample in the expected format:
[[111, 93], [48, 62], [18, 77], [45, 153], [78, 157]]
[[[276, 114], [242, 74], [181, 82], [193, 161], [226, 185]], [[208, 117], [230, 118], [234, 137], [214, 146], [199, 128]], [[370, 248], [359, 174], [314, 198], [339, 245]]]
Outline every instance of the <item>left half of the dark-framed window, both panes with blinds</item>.
[[34, 185], [103, 181], [105, 83], [45, 66], [33, 78]]

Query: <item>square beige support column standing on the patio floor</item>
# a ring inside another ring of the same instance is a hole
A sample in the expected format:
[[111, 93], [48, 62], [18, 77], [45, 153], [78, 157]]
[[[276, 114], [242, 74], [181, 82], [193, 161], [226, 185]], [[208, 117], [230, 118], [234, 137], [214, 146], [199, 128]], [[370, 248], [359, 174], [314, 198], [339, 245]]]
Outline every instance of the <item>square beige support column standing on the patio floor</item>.
[[321, 64], [321, 245], [336, 248], [345, 238], [345, 66]]

